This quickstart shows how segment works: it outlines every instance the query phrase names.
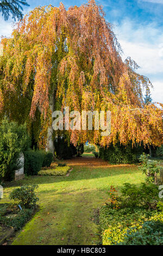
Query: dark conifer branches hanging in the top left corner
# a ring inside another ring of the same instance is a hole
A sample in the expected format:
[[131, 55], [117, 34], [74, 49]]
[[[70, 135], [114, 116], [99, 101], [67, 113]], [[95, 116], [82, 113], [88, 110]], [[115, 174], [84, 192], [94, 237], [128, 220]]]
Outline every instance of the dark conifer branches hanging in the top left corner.
[[8, 20], [10, 14], [12, 19], [21, 20], [23, 18], [22, 5], [29, 6], [26, 0], [0, 0], [0, 13], [4, 16], [4, 20]]

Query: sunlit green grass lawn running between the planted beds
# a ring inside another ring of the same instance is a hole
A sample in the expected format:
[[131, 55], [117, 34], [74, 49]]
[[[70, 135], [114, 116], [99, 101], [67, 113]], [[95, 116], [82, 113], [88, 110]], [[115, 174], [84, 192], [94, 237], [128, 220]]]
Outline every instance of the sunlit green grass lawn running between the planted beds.
[[4, 188], [1, 203], [10, 201], [13, 188], [39, 184], [40, 210], [13, 245], [97, 245], [101, 239], [94, 213], [107, 200], [110, 186], [120, 189], [124, 182], [140, 184], [145, 178], [135, 165], [109, 165], [96, 158], [75, 158], [67, 165], [73, 168], [68, 177], [27, 177]]

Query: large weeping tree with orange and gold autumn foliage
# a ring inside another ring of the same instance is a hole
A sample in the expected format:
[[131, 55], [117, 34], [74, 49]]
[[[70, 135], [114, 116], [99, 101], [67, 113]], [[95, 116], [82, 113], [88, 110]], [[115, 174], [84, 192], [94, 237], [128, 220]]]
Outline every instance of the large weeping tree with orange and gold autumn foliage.
[[151, 82], [137, 74], [130, 58], [122, 61], [121, 46], [95, 1], [68, 10], [63, 4], [35, 8], [2, 44], [1, 116], [35, 122], [39, 143], [48, 150], [54, 150], [52, 112], [65, 106], [111, 111], [110, 136], [68, 130], [74, 145], [161, 144], [162, 110], [143, 102]]

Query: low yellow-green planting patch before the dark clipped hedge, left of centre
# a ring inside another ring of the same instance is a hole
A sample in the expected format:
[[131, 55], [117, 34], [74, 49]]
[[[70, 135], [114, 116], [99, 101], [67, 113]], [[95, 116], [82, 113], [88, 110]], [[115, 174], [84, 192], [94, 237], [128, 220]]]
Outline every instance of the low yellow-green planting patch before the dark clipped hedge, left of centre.
[[65, 176], [70, 170], [69, 166], [59, 167], [57, 166], [55, 169], [47, 169], [47, 170], [41, 170], [38, 172], [38, 175], [41, 176]]

